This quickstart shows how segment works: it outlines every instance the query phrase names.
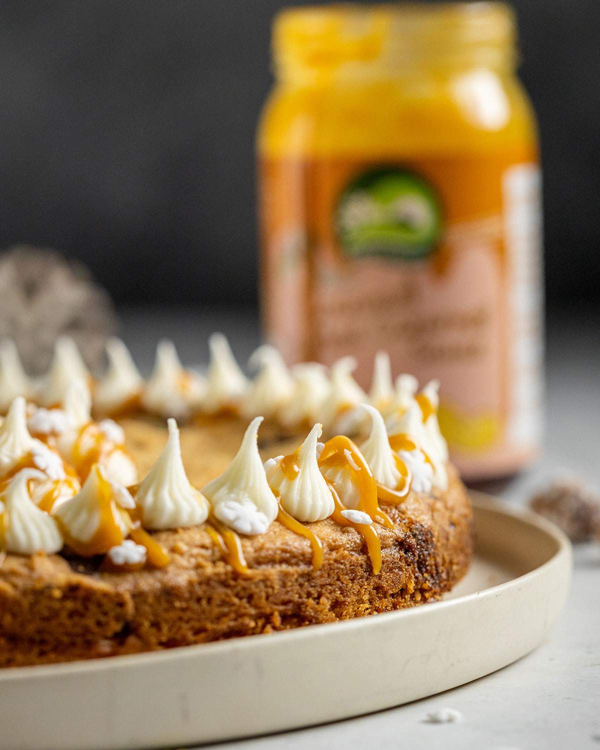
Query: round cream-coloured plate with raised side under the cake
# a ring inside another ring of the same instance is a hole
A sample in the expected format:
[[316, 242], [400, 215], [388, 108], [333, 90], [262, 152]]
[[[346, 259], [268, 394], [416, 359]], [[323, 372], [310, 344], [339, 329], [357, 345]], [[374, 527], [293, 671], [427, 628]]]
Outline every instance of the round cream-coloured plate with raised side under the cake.
[[473, 493], [477, 554], [445, 601], [181, 649], [0, 670], [2, 750], [165, 747], [398, 706], [535, 649], [568, 587], [568, 540]]

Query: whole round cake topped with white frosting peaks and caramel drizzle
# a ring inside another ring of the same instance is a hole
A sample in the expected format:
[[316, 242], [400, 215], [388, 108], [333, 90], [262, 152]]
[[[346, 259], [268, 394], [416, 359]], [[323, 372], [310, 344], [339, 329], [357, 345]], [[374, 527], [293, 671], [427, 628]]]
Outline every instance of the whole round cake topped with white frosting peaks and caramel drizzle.
[[289, 371], [270, 347], [248, 380], [218, 335], [206, 374], [168, 343], [147, 381], [108, 354], [92, 378], [63, 340], [31, 383], [0, 350], [0, 666], [383, 613], [463, 577], [435, 383], [380, 355], [365, 393], [350, 359]]

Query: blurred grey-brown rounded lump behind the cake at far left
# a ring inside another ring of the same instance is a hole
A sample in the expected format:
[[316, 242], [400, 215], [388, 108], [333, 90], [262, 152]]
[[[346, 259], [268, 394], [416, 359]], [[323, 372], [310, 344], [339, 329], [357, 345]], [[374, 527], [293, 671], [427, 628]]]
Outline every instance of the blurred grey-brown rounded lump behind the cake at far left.
[[115, 326], [113, 303], [85, 266], [32, 245], [0, 254], [0, 338], [15, 341], [26, 370], [46, 371], [61, 335], [96, 368]]

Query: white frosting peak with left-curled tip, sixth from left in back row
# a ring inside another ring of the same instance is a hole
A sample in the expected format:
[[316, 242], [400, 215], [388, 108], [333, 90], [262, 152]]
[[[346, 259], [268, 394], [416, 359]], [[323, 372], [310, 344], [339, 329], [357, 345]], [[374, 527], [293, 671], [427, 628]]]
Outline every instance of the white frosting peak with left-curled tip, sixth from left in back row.
[[268, 419], [289, 403], [294, 381], [278, 350], [266, 344], [254, 352], [248, 365], [260, 370], [242, 397], [240, 413], [246, 419], [259, 414]]

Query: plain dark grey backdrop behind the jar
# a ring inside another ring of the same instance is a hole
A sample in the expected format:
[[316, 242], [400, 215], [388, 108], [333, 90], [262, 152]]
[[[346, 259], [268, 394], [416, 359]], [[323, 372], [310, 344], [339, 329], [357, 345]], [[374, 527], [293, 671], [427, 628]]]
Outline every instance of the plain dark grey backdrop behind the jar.
[[[118, 302], [256, 301], [254, 130], [281, 0], [0, 3], [0, 248], [89, 263]], [[520, 0], [547, 293], [597, 293], [600, 5]]]

